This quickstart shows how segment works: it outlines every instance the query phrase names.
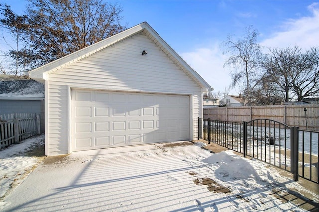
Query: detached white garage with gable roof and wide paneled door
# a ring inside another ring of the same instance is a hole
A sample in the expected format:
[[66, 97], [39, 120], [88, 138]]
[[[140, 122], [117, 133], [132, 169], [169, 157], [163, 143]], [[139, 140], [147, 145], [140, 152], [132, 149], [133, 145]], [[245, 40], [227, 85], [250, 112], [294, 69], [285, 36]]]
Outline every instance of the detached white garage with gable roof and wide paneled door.
[[29, 71], [45, 83], [45, 154], [197, 138], [211, 87], [146, 22]]

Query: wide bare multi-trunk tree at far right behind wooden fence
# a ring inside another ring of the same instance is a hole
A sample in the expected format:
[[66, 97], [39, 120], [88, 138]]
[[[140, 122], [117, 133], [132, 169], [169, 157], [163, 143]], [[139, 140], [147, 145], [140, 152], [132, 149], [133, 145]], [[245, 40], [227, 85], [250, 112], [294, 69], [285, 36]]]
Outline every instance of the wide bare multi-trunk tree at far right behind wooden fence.
[[319, 93], [319, 51], [311, 48], [274, 48], [262, 63], [269, 80], [276, 83], [285, 93], [285, 101], [296, 98], [301, 101]]

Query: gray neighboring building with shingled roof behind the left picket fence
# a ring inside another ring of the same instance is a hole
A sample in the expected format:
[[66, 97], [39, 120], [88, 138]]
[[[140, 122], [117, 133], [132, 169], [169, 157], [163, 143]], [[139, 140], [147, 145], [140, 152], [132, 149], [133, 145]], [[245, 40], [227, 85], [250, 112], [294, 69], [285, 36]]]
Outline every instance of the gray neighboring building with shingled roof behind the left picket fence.
[[0, 115], [36, 113], [44, 132], [44, 85], [32, 79], [0, 77]]

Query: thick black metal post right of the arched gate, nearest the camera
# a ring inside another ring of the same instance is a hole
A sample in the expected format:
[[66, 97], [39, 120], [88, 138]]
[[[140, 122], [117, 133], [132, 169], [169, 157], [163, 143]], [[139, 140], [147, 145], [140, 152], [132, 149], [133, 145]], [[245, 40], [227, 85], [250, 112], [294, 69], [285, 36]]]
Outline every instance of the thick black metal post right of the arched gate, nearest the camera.
[[290, 127], [290, 163], [291, 173], [293, 173], [295, 181], [298, 181], [298, 130], [299, 127]]

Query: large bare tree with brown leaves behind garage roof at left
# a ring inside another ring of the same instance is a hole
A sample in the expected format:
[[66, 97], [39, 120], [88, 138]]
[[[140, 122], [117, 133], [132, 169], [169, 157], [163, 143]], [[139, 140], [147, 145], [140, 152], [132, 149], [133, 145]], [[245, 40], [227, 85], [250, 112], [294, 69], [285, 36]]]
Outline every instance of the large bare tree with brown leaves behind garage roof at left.
[[[122, 7], [101, 0], [28, 0], [24, 16], [1, 6], [1, 25], [23, 33], [30, 68], [43, 65], [101, 41], [126, 26], [120, 24]], [[26, 17], [21, 25], [16, 20]]]

